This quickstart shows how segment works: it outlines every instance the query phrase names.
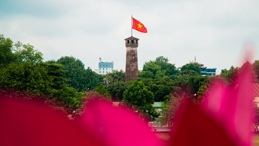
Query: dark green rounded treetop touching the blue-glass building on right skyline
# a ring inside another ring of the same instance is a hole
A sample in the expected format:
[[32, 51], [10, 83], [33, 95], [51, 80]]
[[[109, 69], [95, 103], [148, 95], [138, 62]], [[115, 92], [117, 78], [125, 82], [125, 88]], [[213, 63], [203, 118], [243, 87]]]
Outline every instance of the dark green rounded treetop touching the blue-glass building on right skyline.
[[181, 67], [181, 75], [196, 76], [201, 72], [200, 65], [197, 62], [191, 62]]

